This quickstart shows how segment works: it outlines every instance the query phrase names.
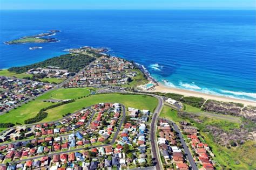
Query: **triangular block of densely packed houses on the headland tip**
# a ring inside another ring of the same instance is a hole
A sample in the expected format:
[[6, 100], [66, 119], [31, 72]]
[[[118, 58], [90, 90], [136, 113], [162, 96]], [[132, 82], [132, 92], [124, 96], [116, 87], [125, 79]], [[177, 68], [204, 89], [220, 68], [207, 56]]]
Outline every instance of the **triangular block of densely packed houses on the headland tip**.
[[134, 65], [115, 56], [102, 55], [70, 80], [65, 87], [113, 86], [127, 84], [137, 75]]

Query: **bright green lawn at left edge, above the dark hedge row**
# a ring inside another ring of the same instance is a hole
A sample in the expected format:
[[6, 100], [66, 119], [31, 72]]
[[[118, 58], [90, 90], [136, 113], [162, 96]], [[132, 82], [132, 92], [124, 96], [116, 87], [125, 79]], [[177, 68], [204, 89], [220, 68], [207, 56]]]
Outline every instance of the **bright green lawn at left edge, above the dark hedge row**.
[[31, 101], [28, 104], [23, 104], [17, 109], [12, 109], [9, 113], [0, 115], [0, 122], [14, 123], [16, 122], [24, 124], [25, 119], [35, 117], [38, 111], [42, 108], [46, 108], [54, 103], [43, 102], [40, 100]]

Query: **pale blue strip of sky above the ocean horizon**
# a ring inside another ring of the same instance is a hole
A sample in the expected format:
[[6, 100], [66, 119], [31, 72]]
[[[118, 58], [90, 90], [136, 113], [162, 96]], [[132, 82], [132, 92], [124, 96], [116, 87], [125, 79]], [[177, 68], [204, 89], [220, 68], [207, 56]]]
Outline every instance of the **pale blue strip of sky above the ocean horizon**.
[[255, 0], [0, 0], [0, 9], [256, 9]]

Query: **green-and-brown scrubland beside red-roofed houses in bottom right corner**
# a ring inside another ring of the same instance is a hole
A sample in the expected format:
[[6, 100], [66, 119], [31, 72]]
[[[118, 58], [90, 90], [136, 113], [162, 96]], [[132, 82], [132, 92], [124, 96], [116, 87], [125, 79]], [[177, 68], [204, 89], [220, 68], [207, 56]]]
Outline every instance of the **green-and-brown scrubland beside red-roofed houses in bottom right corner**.
[[203, 139], [211, 147], [220, 166], [217, 169], [250, 169], [256, 167], [256, 143], [250, 133], [255, 123], [242, 118], [241, 123], [217, 118], [198, 116], [185, 111], [176, 111], [166, 105], [160, 117], [169, 118], [179, 124], [186, 120], [196, 126]]

